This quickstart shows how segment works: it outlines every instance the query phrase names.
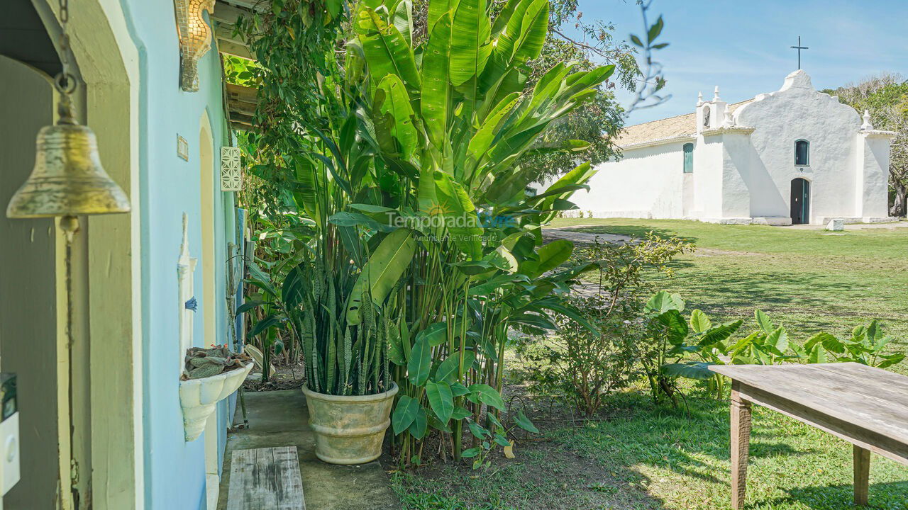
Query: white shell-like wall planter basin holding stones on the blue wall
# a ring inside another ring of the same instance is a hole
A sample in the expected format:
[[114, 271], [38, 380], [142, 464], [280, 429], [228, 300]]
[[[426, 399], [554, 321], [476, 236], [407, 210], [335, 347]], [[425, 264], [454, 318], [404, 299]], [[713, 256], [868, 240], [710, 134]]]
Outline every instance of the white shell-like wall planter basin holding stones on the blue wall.
[[230, 370], [210, 378], [180, 381], [180, 407], [183, 407], [183, 428], [187, 441], [194, 441], [202, 436], [205, 422], [214, 412], [217, 403], [240, 388], [253, 365], [250, 361], [244, 368], [238, 370]]

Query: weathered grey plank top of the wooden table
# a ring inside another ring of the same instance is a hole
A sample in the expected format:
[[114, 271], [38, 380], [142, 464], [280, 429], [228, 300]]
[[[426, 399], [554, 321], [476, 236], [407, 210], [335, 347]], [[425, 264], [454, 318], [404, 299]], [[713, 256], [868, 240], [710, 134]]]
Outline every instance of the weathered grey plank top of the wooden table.
[[717, 365], [713, 371], [908, 445], [908, 378], [857, 363]]

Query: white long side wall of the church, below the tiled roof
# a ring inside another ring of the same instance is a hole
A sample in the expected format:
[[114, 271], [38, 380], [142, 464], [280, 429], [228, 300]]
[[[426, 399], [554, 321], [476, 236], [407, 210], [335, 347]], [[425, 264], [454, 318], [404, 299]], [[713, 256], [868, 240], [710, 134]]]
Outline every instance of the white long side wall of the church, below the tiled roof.
[[571, 201], [596, 218], [682, 217], [684, 143], [627, 151], [621, 161], [600, 164], [590, 191], [577, 191]]

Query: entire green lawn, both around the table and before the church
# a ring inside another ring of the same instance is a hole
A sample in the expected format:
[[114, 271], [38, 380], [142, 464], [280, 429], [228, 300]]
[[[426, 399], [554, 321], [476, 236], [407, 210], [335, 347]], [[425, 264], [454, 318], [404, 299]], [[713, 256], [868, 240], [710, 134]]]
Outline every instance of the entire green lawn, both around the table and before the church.
[[[694, 221], [560, 220], [587, 232], [641, 236], [654, 230], [696, 243], [660, 289], [714, 319], [751, 320], [763, 309], [795, 338], [824, 329], [845, 335], [881, 319], [908, 348], [908, 229], [795, 230]], [[751, 324], [752, 325], [752, 324]], [[908, 373], [908, 363], [897, 368]], [[395, 473], [407, 509], [726, 510], [727, 401], [691, 388], [688, 408], [654, 407], [643, 392], [609, 399], [603, 417], [578, 427], [540, 420], [541, 437], [518, 442], [518, 458], [487, 470], [434, 463]], [[540, 417], [531, 414], [531, 417]], [[852, 449], [794, 419], [755, 407], [746, 508], [846, 510]], [[908, 467], [873, 456], [870, 507], [908, 510]]]

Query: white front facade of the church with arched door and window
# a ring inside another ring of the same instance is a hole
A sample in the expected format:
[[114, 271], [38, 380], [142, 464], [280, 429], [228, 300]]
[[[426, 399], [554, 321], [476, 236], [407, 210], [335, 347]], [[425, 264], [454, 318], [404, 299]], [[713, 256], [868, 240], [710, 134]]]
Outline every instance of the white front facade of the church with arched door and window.
[[[735, 122], [755, 128], [750, 135], [755, 153], [749, 158], [735, 156], [750, 161], [741, 170], [752, 185], [752, 216], [789, 216], [795, 178], [811, 182], [811, 222], [862, 215], [854, 207], [861, 118], [833, 96], [816, 92], [804, 71], [789, 74], [778, 92], [760, 94], [753, 103], [742, 106], [735, 112]], [[795, 166], [797, 140], [810, 142], [808, 166]]]

